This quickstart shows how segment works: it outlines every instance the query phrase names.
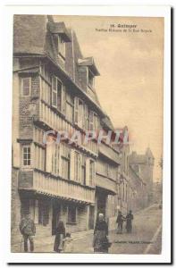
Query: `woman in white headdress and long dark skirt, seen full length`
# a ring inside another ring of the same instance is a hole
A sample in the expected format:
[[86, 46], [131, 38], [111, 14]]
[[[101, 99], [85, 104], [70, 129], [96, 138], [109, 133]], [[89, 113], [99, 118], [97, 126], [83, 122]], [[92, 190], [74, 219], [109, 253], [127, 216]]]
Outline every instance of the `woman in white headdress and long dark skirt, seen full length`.
[[93, 247], [94, 252], [108, 253], [108, 248], [110, 243], [107, 239], [108, 236], [108, 226], [104, 219], [104, 214], [98, 214], [96, 220], [96, 227], [94, 230], [94, 241]]

